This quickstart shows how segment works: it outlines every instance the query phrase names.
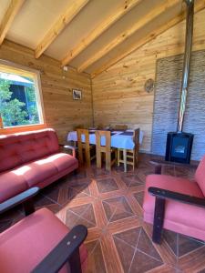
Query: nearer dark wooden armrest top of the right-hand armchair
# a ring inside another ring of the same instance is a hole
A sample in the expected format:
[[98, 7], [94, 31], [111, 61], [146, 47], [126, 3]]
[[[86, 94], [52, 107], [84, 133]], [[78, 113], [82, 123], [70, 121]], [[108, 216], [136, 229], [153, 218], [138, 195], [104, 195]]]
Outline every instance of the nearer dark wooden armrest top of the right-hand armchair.
[[162, 189], [159, 187], [149, 187], [149, 193], [154, 197], [159, 197], [161, 199], [171, 199], [179, 201], [181, 203], [186, 203], [189, 205], [195, 205], [198, 207], [205, 208], [205, 198], [192, 197], [189, 195], [184, 195], [178, 192], [170, 191], [168, 189]]

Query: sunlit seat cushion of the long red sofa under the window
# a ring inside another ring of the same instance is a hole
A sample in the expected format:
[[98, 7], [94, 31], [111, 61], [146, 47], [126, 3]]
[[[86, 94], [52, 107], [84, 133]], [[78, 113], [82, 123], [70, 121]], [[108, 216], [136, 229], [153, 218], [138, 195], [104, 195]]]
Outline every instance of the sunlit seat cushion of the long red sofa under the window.
[[57, 153], [6, 171], [0, 174], [0, 203], [77, 165], [77, 158]]

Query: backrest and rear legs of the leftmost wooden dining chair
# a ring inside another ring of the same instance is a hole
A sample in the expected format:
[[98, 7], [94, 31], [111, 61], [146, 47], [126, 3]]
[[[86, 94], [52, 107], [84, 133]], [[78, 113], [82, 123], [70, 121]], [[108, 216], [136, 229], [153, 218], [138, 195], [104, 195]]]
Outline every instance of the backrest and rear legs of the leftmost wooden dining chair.
[[78, 159], [82, 165], [84, 163], [83, 150], [85, 150], [85, 157], [87, 167], [90, 166], [90, 150], [89, 150], [89, 131], [87, 129], [77, 128], [77, 147], [78, 147]]

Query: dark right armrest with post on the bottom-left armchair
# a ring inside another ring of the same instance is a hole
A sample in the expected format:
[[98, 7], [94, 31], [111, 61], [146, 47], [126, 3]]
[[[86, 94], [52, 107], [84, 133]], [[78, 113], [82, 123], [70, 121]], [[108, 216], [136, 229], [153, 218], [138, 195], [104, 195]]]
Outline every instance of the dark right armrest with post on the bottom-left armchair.
[[87, 238], [87, 227], [79, 225], [74, 227], [67, 233], [56, 248], [44, 258], [37, 266], [32, 270], [32, 273], [56, 273], [62, 268], [67, 261], [71, 273], [81, 272], [81, 263], [79, 256], [79, 247]]

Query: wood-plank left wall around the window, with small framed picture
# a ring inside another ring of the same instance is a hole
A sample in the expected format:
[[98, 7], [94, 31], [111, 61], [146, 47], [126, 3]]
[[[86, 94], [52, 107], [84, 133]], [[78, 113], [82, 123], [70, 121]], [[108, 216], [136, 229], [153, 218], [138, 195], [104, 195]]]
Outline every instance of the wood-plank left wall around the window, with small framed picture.
[[[73, 68], [63, 71], [59, 62], [47, 56], [36, 60], [33, 50], [9, 41], [1, 46], [0, 58], [40, 71], [46, 125], [56, 129], [60, 141], [66, 139], [73, 127], [92, 125], [91, 86], [87, 74], [78, 74]], [[82, 89], [81, 101], [73, 100], [72, 88]]]

